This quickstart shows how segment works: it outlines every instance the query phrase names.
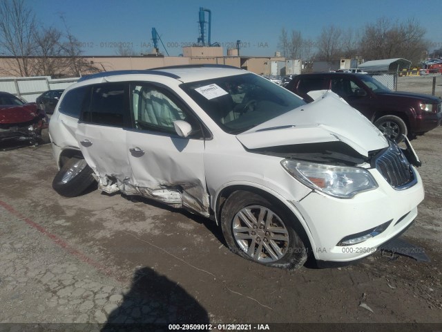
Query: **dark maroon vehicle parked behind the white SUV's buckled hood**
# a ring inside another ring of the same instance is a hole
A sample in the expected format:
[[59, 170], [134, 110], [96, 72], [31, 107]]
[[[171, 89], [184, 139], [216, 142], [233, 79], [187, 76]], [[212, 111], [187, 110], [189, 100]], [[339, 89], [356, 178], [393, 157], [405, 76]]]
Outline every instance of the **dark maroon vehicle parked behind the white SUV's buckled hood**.
[[307, 101], [310, 91], [332, 90], [369, 118], [385, 136], [410, 139], [441, 124], [441, 99], [432, 95], [391, 91], [367, 74], [314, 73], [297, 75], [286, 86]]

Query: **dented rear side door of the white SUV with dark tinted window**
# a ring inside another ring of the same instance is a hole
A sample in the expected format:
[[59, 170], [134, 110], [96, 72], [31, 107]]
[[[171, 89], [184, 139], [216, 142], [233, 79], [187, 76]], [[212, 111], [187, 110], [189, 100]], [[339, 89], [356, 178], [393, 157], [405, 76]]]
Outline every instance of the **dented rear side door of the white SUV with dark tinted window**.
[[75, 136], [102, 185], [110, 178], [124, 182], [131, 174], [126, 153], [129, 117], [127, 83], [91, 87], [90, 104], [81, 114]]

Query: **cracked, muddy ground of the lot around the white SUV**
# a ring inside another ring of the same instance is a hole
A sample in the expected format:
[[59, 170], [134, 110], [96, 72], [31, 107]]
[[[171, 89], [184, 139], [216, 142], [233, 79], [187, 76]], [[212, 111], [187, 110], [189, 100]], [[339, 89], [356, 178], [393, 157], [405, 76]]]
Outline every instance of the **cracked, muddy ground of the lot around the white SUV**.
[[403, 239], [431, 262], [377, 252], [296, 271], [234, 255], [212, 221], [181, 210], [58, 196], [50, 145], [0, 151], [0, 322], [442, 323], [442, 127], [412, 144], [425, 200]]

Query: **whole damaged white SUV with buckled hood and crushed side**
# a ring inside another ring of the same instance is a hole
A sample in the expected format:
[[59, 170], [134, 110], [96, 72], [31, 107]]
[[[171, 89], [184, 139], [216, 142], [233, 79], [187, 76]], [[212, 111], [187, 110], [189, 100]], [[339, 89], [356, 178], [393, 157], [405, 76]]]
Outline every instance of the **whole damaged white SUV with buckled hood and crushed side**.
[[185, 208], [267, 266], [365, 257], [412, 223], [424, 196], [412, 147], [337, 95], [305, 104], [229, 66], [84, 77], [61, 96], [50, 138], [59, 194], [96, 180]]

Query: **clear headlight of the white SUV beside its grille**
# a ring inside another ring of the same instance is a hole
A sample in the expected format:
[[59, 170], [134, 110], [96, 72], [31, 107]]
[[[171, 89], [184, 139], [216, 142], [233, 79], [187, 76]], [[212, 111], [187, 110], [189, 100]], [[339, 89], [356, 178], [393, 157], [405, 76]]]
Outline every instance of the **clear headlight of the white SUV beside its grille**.
[[291, 159], [282, 160], [281, 165], [307, 187], [340, 199], [351, 199], [360, 192], [378, 187], [372, 174], [358, 167], [322, 165]]

